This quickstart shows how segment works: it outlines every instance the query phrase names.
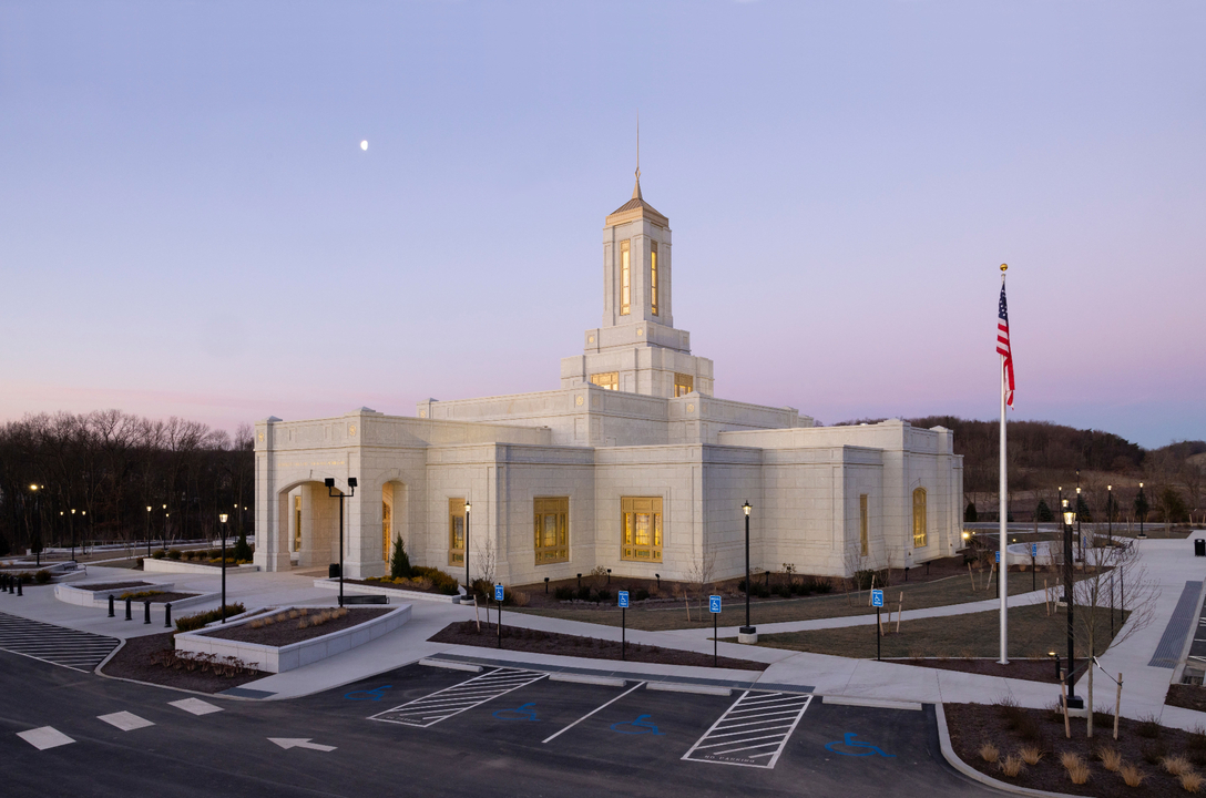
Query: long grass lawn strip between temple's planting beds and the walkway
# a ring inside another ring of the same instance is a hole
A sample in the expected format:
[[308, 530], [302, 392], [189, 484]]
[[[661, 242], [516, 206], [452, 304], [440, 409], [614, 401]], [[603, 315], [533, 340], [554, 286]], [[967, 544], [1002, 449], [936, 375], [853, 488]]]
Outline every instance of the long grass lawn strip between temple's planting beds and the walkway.
[[[1059, 581], [1058, 574], [1040, 571], [1035, 576], [1037, 577], [1038, 589], [1042, 589], [1044, 579], [1052, 585]], [[1077, 574], [1077, 577], [1079, 579], [1081, 575]], [[984, 576], [980, 575], [978, 579], [983, 588]], [[1030, 573], [1009, 573], [1011, 595], [1029, 592], [1030, 585]], [[996, 595], [991, 585], [987, 591], [973, 591], [971, 579], [968, 579], [967, 574], [931, 582], [901, 582], [886, 588], [885, 593], [894, 608], [896, 606], [897, 598], [903, 593], [906, 610], [980, 602]], [[778, 623], [780, 621], [813, 621], [816, 618], [848, 617], [851, 615], [874, 615], [874, 608], [867, 606], [870, 602], [871, 597], [867, 591], [863, 591], [861, 597], [859, 593], [830, 593], [827, 595], [790, 599], [755, 598], [750, 602], [750, 620], [755, 626], [759, 626], [763, 623]], [[620, 610], [615, 606], [561, 603], [543, 608], [516, 608], [513, 611], [531, 612], [533, 615], [564, 618], [567, 621], [620, 626]], [[1042, 606], [1038, 608], [1038, 611], [1043, 611]], [[658, 629], [689, 629], [712, 626], [707, 599], [702, 603], [692, 599], [690, 602], [690, 618], [687, 615], [689, 610], [685, 600], [673, 604], [655, 603], [651, 606], [637, 605], [628, 609], [628, 627], [654, 632]], [[720, 626], [740, 626], [745, 623], [744, 597], [725, 597], [724, 612], [720, 614], [719, 623]], [[994, 636], [993, 639], [995, 640], [996, 638]], [[872, 642], [874, 641], [872, 640]]]

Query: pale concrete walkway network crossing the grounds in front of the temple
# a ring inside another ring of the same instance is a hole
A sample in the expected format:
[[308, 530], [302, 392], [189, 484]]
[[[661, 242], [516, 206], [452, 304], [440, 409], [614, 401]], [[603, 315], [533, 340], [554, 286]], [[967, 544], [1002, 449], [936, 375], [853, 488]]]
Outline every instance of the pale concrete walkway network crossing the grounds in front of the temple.
[[[1206, 714], [1167, 708], [1164, 697], [1173, 676], [1173, 669], [1148, 665], [1169, 617], [1181, 597], [1185, 582], [1206, 582], [1206, 559], [1193, 557], [1192, 540], [1146, 540], [1140, 546], [1142, 563], [1148, 576], [1157, 583], [1159, 595], [1154, 599], [1151, 623], [1142, 629], [1129, 633], [1124, 627], [1123, 640], [1116, 649], [1101, 658], [1102, 667], [1116, 674], [1124, 674], [1123, 714], [1128, 717], [1154, 715], [1167, 726], [1193, 728], [1206, 726]], [[142, 580], [148, 582], [175, 582], [176, 589], [210, 592], [217, 589], [217, 577], [207, 574], [151, 574], [124, 569], [89, 568], [89, 582]], [[230, 602], [244, 602], [248, 609], [256, 606], [281, 605], [330, 605], [334, 600], [329, 591], [314, 587], [312, 577], [291, 573], [252, 573], [227, 576], [227, 593]], [[1206, 593], [1206, 587], [1204, 587]], [[1194, 609], [1196, 617], [1199, 604]], [[1043, 600], [1043, 592], [1025, 593], [1009, 598], [1013, 606], [1034, 604]], [[201, 608], [191, 608], [188, 612]], [[904, 620], [923, 617], [948, 617], [966, 612], [980, 612], [996, 609], [995, 599], [972, 602], [953, 606], [909, 610]], [[11, 595], [0, 597], [0, 611], [24, 617], [59, 623], [66, 627], [109, 634], [117, 638], [135, 636], [163, 630], [162, 610], [156, 614], [156, 622], [147, 627], [141, 621], [123, 621], [105, 617], [100, 608], [95, 610], [58, 602], [53, 597], [53, 587], [31, 586], [25, 597], [17, 599]], [[121, 614], [118, 614], [121, 615]], [[141, 617], [141, 616], [139, 616]], [[428, 642], [428, 638], [453, 621], [474, 617], [473, 608], [416, 602], [412, 604], [411, 621], [399, 630], [343, 655], [324, 659], [306, 668], [276, 674], [244, 685], [244, 688], [271, 693], [273, 699], [304, 696], [323, 690], [346, 685], [369, 677], [374, 674], [417, 662], [437, 653], [491, 657], [488, 649], [452, 646]], [[485, 611], [481, 611], [485, 621]], [[493, 620], [493, 614], [492, 614]], [[1134, 620], [1134, 617], [1132, 617]], [[825, 629], [844, 626], [863, 626], [874, 622], [874, 616], [854, 616], [845, 618], [822, 618], [790, 623], [765, 624], [759, 628], [763, 634], [790, 632], [798, 629]], [[503, 623], [545, 632], [579, 634], [608, 640], [619, 640], [620, 629], [578, 621], [564, 621], [520, 612], [504, 612]], [[1196, 629], [1196, 624], [1193, 626]], [[720, 630], [721, 636], [736, 636], [734, 627]], [[628, 630], [631, 642], [657, 645], [667, 649], [679, 649], [712, 653], [710, 629], [678, 629], [666, 632]], [[1189, 635], [1193, 636], [1192, 634]], [[1189, 640], [1185, 641], [1188, 650]], [[769, 667], [755, 677], [760, 682], [778, 685], [810, 686], [819, 694], [842, 696], [868, 700], [884, 702], [978, 702], [991, 703], [1005, 697], [1013, 698], [1023, 706], [1049, 706], [1059, 698], [1059, 692], [1052, 685], [1040, 682], [1001, 679], [965, 674], [953, 670], [918, 668], [894, 663], [866, 659], [850, 659], [827, 655], [794, 652], [781, 649], [744, 646], [733, 642], [720, 642], [718, 652], [725, 657], [768, 663]], [[507, 659], [515, 662], [541, 663], [550, 667], [598, 667], [598, 661], [580, 659], [554, 655], [504, 652]], [[634, 671], [648, 671], [649, 665], [632, 665]], [[624, 673], [625, 664], [608, 662], [607, 668]], [[668, 667], [662, 667], [668, 668]], [[675, 668], [675, 673], [689, 676], [715, 676], [716, 671], [707, 668]], [[750, 671], [742, 671], [749, 674]], [[1103, 706], [1112, 704], [1113, 685], [1097, 674], [1097, 692], [1095, 702]], [[1077, 692], [1085, 690], [1084, 677], [1077, 683]]]

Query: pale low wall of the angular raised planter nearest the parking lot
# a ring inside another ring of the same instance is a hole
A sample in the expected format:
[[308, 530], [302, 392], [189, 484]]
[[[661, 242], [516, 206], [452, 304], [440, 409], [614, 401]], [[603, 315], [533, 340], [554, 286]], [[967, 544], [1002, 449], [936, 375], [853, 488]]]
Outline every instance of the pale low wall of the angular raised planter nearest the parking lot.
[[[282, 606], [277, 611], [283, 612], [291, 609], [295, 608]], [[308, 609], [312, 610], [314, 608]], [[233, 624], [228, 622], [226, 626], [230, 628], [232, 626], [242, 626], [251, 621], [252, 618], [248, 617]], [[365, 642], [393, 632], [408, 621], [410, 621], [410, 605], [403, 604], [392, 612], [386, 612], [380, 617], [365, 621], [350, 629], [340, 629], [339, 632], [332, 632], [330, 634], [280, 647], [209, 636], [205, 633], [212, 630], [212, 628], [206, 627], [197, 632], [177, 634], [176, 651], [192, 651], [194, 653], [207, 653], [218, 657], [238, 657], [259, 670], [280, 674], [362, 646]]]

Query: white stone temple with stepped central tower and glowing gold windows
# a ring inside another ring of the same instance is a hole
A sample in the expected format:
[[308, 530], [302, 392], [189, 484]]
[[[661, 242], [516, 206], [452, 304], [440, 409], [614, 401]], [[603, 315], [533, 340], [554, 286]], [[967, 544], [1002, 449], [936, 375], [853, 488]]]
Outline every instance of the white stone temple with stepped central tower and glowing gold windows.
[[493, 563], [525, 585], [613, 574], [690, 580], [756, 569], [849, 575], [961, 545], [962, 458], [952, 433], [902, 421], [815, 427], [792, 407], [715, 395], [712, 360], [674, 327], [669, 221], [640, 193], [603, 225], [603, 318], [552, 391], [367, 407], [256, 426], [256, 563], [411, 563], [464, 580]]

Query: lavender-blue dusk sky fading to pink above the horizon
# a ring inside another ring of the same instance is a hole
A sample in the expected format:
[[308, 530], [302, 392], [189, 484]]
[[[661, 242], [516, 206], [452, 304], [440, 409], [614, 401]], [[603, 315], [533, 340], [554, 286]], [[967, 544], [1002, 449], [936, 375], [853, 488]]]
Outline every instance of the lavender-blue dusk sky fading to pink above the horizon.
[[[0, 0], [0, 421], [560, 387], [671, 219], [716, 394], [1206, 439], [1201, 2]], [[369, 147], [361, 149], [361, 141]]]

